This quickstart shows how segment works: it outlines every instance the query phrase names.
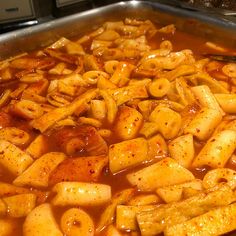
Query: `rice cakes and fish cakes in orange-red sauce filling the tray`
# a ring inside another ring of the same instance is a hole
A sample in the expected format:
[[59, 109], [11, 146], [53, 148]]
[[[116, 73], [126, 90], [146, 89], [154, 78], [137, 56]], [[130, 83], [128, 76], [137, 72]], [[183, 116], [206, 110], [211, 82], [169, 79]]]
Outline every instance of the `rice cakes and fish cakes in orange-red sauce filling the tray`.
[[230, 49], [150, 20], [105, 22], [0, 63], [0, 235], [236, 229]]

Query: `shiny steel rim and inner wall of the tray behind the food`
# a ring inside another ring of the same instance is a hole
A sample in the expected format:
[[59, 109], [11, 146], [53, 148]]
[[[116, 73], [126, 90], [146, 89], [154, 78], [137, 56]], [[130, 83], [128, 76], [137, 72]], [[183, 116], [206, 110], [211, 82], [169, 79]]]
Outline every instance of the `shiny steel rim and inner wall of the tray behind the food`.
[[162, 25], [174, 23], [179, 30], [236, 48], [236, 23], [233, 21], [158, 2], [128, 1], [2, 34], [0, 59], [45, 47], [62, 36], [82, 35], [96, 29], [104, 21], [125, 17], [150, 19]]

